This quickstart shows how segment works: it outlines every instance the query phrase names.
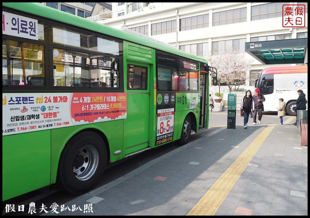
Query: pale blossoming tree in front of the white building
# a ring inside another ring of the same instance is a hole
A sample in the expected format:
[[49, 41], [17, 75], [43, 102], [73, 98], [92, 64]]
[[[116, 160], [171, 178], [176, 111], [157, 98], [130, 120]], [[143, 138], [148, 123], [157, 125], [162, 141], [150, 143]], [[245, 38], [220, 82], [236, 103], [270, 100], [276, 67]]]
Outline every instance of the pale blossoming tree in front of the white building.
[[223, 51], [220, 55], [211, 55], [207, 58], [210, 65], [217, 69], [219, 83], [226, 83], [229, 93], [244, 85], [250, 79], [246, 72], [249, 71], [253, 62], [241, 54], [238, 49]]

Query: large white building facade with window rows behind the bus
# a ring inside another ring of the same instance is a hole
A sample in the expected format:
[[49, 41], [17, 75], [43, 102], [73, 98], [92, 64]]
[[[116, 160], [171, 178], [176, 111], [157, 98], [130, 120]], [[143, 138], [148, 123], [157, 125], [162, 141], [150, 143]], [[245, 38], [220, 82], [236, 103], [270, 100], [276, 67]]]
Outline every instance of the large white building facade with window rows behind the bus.
[[[283, 27], [283, 5], [305, 5], [305, 27]], [[98, 21], [134, 30], [180, 50], [207, 57], [221, 48], [237, 48], [253, 59], [248, 75], [259, 74], [265, 65], [244, 51], [246, 42], [308, 38], [307, 2], [112, 2], [112, 18]], [[213, 50], [212, 50], [213, 49]], [[210, 63], [212, 66], [212, 63]], [[254, 91], [255, 81], [240, 86]], [[220, 92], [228, 91], [221, 86]], [[218, 87], [211, 87], [218, 92]]]

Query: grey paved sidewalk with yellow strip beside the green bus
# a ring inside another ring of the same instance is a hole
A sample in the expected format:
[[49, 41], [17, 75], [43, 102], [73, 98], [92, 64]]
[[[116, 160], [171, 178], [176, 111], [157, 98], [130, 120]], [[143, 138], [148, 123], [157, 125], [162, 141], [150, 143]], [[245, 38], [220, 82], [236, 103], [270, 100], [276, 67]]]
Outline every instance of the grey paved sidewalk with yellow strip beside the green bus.
[[293, 119], [220, 128], [64, 205], [77, 211], [43, 215], [307, 216], [308, 147]]

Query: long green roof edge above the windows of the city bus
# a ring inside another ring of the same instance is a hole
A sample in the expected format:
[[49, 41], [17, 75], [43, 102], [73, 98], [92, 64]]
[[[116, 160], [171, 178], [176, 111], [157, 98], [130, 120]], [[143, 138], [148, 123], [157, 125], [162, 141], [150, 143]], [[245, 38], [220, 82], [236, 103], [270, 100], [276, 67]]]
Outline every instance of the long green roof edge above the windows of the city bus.
[[137, 34], [129, 33], [128, 31], [122, 31], [120, 29], [116, 29], [105, 24], [100, 24], [98, 22], [87, 20], [86, 18], [82, 18], [73, 14], [69, 14], [64, 11], [60, 11], [48, 6], [44, 6], [42, 4], [36, 2], [2, 2], [3, 7], [12, 8], [15, 10], [22, 11], [23, 13], [29, 13], [37, 16], [41, 16], [42, 18], [49, 18], [55, 20], [57, 22], [62, 22], [64, 24], [71, 24], [73, 26], [77, 26], [79, 28], [83, 28], [86, 30], [92, 30], [94, 32], [107, 34], [113, 36], [118, 39], [122, 39], [129, 42], [134, 42], [136, 44], [140, 44], [143, 46], [151, 47], [154, 49], [158, 49], [161, 51], [166, 51], [171, 54], [183, 56], [184, 58], [192, 59], [195, 61], [200, 61], [202, 63], [208, 63], [208, 61], [200, 56], [196, 56], [190, 54], [185, 51], [181, 51], [176, 47], [170, 47], [160, 42], [153, 41], [151, 39], [141, 37]]

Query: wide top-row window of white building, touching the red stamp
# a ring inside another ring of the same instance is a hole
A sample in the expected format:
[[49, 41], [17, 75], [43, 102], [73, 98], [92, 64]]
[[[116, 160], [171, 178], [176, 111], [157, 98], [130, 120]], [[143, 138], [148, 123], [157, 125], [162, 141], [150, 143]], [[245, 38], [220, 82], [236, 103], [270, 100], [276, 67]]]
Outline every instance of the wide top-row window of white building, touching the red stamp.
[[273, 2], [251, 7], [251, 20], [263, 20], [282, 16], [282, 6], [290, 2]]

